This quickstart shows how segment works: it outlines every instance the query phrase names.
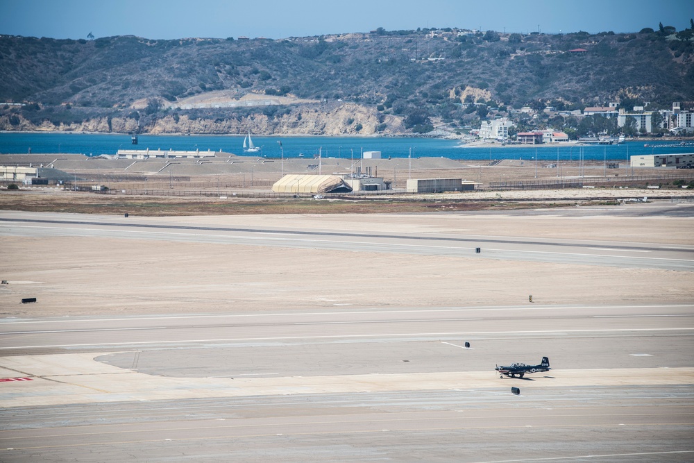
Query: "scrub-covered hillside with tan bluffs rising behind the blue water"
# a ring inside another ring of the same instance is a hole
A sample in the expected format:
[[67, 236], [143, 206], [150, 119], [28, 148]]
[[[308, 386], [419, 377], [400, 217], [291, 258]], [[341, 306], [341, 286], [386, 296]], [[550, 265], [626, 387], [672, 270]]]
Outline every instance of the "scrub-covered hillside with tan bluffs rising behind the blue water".
[[667, 108], [694, 101], [692, 33], [3, 35], [0, 101], [29, 104], [0, 106], [0, 130], [368, 135], [455, 131], [522, 106]]

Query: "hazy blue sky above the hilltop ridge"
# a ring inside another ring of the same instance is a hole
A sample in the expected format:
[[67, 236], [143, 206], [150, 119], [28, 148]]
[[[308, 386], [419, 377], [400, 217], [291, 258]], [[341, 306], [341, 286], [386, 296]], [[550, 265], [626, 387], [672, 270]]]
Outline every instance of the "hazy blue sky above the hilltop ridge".
[[303, 37], [459, 27], [499, 32], [638, 32], [690, 27], [692, 0], [0, 0], [0, 34]]

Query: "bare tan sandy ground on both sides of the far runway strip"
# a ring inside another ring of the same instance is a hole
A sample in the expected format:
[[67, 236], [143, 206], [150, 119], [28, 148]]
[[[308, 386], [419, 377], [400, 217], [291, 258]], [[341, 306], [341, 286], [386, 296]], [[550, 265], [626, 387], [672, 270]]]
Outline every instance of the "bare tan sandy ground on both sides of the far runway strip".
[[[626, 206], [625, 206], [626, 207]], [[694, 244], [691, 217], [253, 215], [164, 222]], [[663, 233], [667, 230], [667, 233]], [[0, 316], [691, 302], [689, 272], [139, 239], [0, 237]], [[22, 305], [25, 297], [39, 303]]]

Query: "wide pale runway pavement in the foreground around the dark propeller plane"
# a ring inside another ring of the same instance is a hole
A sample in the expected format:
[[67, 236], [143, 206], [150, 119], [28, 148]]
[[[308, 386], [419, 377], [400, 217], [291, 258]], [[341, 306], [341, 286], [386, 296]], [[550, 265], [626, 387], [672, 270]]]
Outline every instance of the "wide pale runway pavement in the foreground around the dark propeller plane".
[[[0, 384], [0, 455], [686, 461], [693, 317], [609, 305], [5, 321], [1, 376], [29, 380]], [[548, 373], [493, 371], [541, 355]]]

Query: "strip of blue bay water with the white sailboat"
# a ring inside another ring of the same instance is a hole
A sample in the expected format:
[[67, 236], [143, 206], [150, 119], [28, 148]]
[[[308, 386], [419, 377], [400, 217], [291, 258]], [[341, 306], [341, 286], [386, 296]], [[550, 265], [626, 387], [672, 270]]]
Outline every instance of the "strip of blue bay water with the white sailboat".
[[[82, 153], [115, 154], [119, 149], [163, 149], [224, 151], [248, 155], [242, 149], [239, 135], [139, 135], [133, 145], [126, 134], [82, 133], [0, 133], [0, 153]], [[383, 158], [451, 158], [469, 160], [534, 159], [539, 160], [628, 160], [629, 155], [692, 153], [693, 144], [679, 142], [625, 142], [618, 145], [589, 146], [497, 146], [462, 147], [457, 140], [413, 137], [281, 137], [253, 136], [262, 152], [251, 157], [313, 158], [321, 151], [325, 158], [359, 158], [362, 151], [381, 151]], [[281, 148], [280, 148], [281, 142]]]

